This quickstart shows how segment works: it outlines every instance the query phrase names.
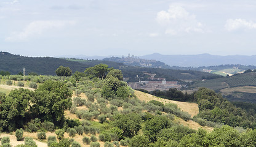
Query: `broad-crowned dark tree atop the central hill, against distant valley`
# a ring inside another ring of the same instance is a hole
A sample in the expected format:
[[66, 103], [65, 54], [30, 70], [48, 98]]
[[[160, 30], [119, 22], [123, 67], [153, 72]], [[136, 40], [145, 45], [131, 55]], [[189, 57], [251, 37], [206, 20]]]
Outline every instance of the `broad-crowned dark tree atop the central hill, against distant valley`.
[[84, 72], [86, 75], [90, 78], [100, 78], [103, 79], [106, 77], [106, 73], [109, 72], [111, 69], [108, 68], [108, 65], [106, 64], [98, 64], [94, 67], [87, 68]]

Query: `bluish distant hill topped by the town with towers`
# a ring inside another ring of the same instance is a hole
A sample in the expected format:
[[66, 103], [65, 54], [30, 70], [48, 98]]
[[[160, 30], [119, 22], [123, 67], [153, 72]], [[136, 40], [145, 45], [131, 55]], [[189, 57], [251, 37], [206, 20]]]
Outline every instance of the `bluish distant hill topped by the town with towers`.
[[121, 62], [129, 66], [170, 69], [170, 66], [164, 64], [164, 62], [160, 62], [152, 59], [148, 60], [148, 59], [140, 59], [140, 58], [134, 58], [134, 57], [126, 57], [126, 58], [111, 57], [111, 58], [104, 58], [102, 60]]

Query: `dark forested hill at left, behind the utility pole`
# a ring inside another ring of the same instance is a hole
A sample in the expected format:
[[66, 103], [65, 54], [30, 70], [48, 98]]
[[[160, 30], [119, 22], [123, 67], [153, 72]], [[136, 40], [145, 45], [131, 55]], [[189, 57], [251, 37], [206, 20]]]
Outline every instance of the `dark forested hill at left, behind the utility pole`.
[[7, 52], [0, 52], [0, 70], [9, 71], [10, 74], [18, 74], [25, 67], [26, 73], [36, 72], [41, 75], [56, 75], [55, 70], [59, 66], [68, 66], [75, 72], [84, 71], [86, 64], [79, 62], [67, 61], [65, 59], [51, 57], [26, 57], [20, 55], [12, 55]]

